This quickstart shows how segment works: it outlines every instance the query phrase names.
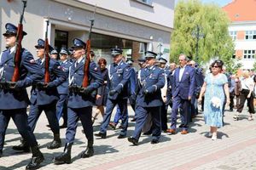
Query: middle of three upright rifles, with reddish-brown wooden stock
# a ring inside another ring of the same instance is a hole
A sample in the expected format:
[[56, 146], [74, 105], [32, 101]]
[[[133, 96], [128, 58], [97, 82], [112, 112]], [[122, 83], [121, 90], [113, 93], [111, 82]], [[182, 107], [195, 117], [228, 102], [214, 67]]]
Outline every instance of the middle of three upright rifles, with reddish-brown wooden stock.
[[48, 26], [49, 20], [46, 20], [46, 31], [44, 39], [44, 84], [49, 83], [49, 42], [48, 42]]

